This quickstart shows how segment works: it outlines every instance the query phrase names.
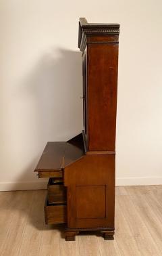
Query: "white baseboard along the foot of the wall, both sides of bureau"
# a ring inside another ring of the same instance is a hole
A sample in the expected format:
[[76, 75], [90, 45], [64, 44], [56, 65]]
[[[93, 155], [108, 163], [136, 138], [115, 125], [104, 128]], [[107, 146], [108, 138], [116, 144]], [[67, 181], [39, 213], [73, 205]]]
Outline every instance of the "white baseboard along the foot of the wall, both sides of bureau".
[[[161, 185], [162, 177], [117, 177], [116, 186]], [[47, 181], [0, 182], [0, 191], [47, 189]]]

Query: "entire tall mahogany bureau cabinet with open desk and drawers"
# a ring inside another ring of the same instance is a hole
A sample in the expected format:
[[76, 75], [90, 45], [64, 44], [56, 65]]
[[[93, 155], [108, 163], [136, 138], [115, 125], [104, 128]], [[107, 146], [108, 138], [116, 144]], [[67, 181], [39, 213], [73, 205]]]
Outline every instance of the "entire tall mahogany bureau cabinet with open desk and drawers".
[[48, 142], [34, 170], [49, 177], [45, 221], [66, 223], [66, 240], [85, 230], [113, 239], [118, 37], [119, 24], [80, 18], [84, 130]]

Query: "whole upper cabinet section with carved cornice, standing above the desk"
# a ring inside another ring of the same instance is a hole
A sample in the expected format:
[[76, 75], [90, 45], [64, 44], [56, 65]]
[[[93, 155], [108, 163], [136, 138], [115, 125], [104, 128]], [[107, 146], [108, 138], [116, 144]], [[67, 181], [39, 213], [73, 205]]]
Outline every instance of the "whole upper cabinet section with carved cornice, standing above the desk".
[[80, 18], [86, 154], [115, 152], [119, 24]]

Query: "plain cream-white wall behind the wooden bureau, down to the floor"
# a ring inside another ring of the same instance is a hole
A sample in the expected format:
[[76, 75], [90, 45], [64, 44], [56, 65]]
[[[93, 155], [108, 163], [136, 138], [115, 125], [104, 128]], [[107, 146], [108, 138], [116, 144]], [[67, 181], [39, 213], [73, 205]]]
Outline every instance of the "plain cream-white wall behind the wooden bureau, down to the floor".
[[48, 141], [82, 130], [78, 18], [117, 22], [117, 184], [162, 184], [162, 3], [0, 1], [0, 190], [45, 188]]

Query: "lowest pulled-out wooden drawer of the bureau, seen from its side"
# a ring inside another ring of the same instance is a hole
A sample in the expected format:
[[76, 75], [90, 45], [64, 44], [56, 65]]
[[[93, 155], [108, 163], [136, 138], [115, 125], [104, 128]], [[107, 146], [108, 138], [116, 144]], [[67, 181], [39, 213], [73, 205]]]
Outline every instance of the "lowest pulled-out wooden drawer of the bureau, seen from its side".
[[67, 219], [66, 205], [49, 205], [45, 202], [45, 223], [65, 223]]

